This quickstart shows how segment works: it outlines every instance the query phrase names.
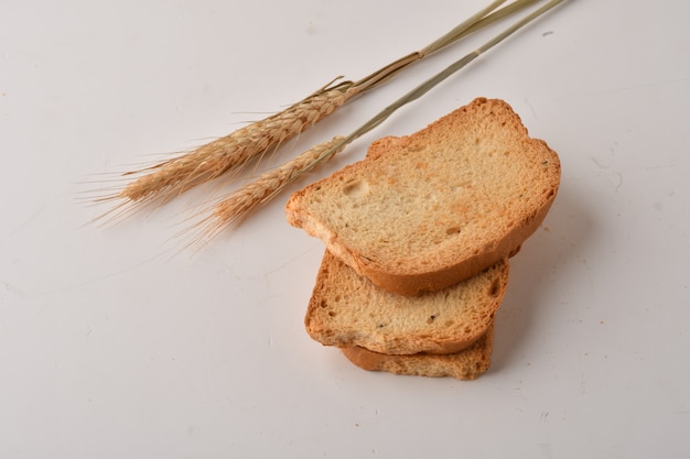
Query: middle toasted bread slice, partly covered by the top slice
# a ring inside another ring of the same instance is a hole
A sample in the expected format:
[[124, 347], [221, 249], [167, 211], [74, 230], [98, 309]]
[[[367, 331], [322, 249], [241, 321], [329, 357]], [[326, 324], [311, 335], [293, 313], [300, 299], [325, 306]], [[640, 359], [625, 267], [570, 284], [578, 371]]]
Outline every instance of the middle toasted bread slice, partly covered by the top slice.
[[375, 286], [326, 250], [304, 325], [324, 346], [388, 354], [457, 352], [493, 323], [508, 272], [504, 260], [456, 285], [403, 296]]

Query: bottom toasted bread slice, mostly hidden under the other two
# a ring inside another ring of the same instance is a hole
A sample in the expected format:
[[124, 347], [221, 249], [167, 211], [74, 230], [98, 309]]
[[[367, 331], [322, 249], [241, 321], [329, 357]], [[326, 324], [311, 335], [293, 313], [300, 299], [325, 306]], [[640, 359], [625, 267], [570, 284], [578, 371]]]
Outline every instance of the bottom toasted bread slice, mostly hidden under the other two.
[[343, 348], [343, 353], [359, 368], [395, 374], [475, 380], [488, 370], [494, 348], [494, 325], [471, 347], [456, 353], [389, 356], [360, 347]]

